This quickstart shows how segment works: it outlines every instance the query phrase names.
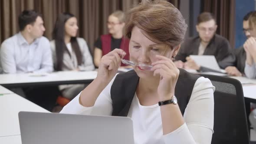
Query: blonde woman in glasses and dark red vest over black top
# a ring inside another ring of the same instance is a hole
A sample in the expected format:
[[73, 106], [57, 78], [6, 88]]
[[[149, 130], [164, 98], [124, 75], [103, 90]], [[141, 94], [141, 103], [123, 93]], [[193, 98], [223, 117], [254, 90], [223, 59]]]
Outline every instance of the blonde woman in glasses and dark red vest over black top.
[[[108, 16], [108, 33], [100, 36], [94, 46], [94, 64], [99, 66], [102, 56], [114, 49], [123, 49], [127, 55], [124, 59], [129, 60], [129, 39], [123, 36], [125, 26], [125, 13], [118, 10]], [[125, 66], [121, 64], [121, 66]]]

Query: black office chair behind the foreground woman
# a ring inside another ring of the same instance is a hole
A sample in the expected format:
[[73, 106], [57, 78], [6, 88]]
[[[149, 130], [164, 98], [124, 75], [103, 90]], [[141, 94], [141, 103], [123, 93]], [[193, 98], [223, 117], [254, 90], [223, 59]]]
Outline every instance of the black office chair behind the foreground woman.
[[249, 144], [241, 83], [229, 77], [200, 75], [210, 79], [215, 86], [214, 133], [211, 144]]

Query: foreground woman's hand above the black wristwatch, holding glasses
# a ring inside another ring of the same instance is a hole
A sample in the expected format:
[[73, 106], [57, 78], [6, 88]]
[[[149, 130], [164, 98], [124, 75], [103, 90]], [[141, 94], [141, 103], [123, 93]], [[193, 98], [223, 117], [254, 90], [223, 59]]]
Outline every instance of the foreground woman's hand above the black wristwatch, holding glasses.
[[166, 101], [174, 95], [175, 85], [180, 74], [180, 70], [176, 67], [171, 59], [164, 56], [156, 56], [157, 62], [153, 62], [154, 76], [160, 75], [158, 85], [158, 95], [160, 101]]

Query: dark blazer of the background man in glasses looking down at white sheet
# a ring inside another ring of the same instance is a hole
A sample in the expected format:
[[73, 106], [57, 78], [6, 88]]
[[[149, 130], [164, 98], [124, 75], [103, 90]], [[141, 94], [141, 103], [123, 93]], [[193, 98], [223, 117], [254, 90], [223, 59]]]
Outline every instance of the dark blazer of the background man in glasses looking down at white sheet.
[[[186, 62], [187, 56], [198, 55], [200, 41], [201, 39], [199, 36], [185, 39], [175, 59]], [[218, 34], [213, 36], [210, 43], [204, 50], [203, 55], [215, 56], [220, 68], [222, 69], [233, 65], [233, 62], [235, 61], [235, 56], [232, 53], [228, 40]]]

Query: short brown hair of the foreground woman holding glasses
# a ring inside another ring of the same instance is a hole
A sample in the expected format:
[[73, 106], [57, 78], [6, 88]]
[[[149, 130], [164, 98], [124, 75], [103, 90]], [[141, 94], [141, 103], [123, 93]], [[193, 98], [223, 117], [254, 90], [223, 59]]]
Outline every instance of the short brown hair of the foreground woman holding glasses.
[[127, 13], [125, 35], [131, 38], [134, 26], [151, 41], [174, 47], [181, 44], [187, 30], [187, 24], [181, 12], [164, 0], [139, 3]]

